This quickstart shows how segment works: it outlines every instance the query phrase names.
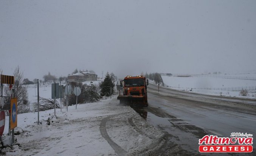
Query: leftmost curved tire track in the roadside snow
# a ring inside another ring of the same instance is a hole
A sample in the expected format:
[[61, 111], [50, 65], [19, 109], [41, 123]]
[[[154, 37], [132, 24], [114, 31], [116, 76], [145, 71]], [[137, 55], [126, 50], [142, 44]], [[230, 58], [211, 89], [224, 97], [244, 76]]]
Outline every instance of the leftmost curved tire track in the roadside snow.
[[101, 135], [103, 136], [104, 139], [106, 139], [106, 141], [109, 143], [109, 145], [113, 148], [113, 150], [115, 150], [116, 154], [118, 154], [118, 156], [124, 156], [127, 152], [121, 148], [118, 144], [116, 144], [108, 135], [107, 133], [107, 129], [106, 129], [106, 123], [107, 120], [109, 120], [111, 117], [113, 117], [114, 115], [110, 115], [109, 117], [103, 118], [101, 120], [101, 125], [99, 127], [99, 130], [101, 132]]

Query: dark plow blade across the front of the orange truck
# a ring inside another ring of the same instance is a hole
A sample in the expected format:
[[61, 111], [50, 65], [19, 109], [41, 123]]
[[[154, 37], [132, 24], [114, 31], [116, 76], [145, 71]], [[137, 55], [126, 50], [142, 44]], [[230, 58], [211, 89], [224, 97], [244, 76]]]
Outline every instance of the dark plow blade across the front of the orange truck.
[[117, 97], [120, 100], [120, 104], [138, 104], [147, 106], [147, 101], [145, 100], [145, 96], [137, 96], [137, 95], [119, 95]]

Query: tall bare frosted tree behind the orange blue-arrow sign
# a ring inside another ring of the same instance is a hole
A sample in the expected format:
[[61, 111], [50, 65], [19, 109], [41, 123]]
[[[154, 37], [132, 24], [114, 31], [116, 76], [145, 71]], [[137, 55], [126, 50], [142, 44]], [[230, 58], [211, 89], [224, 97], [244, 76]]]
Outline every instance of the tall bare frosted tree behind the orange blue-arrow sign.
[[[12, 89], [14, 89], [13, 96], [17, 97], [17, 105], [18, 105], [18, 114], [29, 112], [29, 101], [28, 101], [28, 85], [22, 85], [24, 76], [23, 72], [20, 71], [20, 67], [17, 66], [13, 72], [14, 75], [14, 85]], [[5, 89], [5, 94], [9, 95], [9, 88]]]

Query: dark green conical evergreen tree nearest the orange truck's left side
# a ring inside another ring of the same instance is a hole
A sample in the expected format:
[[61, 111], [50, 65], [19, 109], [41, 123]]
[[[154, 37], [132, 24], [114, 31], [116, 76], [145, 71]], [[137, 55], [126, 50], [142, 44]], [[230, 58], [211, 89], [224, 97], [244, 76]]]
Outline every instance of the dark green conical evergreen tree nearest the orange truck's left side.
[[111, 77], [109, 75], [109, 72], [107, 72], [106, 77], [104, 81], [101, 83], [101, 96], [110, 96], [110, 87], [112, 87], [112, 93], [114, 91], [114, 83], [111, 80]]

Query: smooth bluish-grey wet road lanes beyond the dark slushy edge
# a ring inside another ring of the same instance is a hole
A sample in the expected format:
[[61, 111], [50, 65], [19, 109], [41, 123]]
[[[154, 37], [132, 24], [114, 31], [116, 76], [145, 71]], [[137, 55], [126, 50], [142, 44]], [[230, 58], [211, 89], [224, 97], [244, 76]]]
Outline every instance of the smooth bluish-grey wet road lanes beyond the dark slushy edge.
[[158, 93], [157, 87], [150, 85], [149, 106], [160, 107], [164, 112], [201, 127], [214, 135], [229, 136], [231, 132], [256, 135], [256, 101], [254, 101], [255, 104], [249, 105], [227, 103], [214, 98], [202, 101], [199, 95], [198, 99], [187, 100], [177, 94], [179, 93], [162, 88]]

